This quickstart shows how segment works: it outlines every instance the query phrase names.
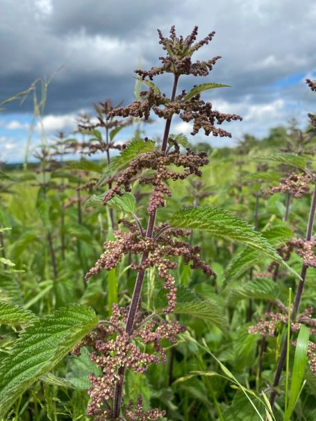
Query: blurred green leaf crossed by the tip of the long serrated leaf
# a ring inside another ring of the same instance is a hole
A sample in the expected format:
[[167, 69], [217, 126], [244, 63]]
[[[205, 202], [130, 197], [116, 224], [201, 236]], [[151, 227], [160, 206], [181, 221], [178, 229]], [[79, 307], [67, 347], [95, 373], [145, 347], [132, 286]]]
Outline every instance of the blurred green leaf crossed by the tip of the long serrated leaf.
[[[263, 232], [262, 235], [272, 244], [272, 246], [274, 246], [274, 248], [282, 246], [293, 237], [292, 231], [285, 225], [276, 225]], [[228, 268], [224, 273], [224, 284], [238, 279], [252, 266], [262, 261], [262, 259], [261, 253], [257, 250], [245, 248], [242, 252], [235, 255], [228, 264]]]

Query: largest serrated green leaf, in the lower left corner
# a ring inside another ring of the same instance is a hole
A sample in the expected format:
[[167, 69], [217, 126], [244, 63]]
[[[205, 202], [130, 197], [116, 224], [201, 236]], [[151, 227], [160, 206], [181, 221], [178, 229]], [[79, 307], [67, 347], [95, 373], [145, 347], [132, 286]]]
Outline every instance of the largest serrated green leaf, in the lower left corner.
[[51, 370], [92, 330], [98, 318], [90, 307], [69, 304], [27, 327], [0, 366], [0, 413]]

